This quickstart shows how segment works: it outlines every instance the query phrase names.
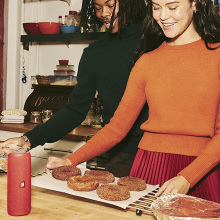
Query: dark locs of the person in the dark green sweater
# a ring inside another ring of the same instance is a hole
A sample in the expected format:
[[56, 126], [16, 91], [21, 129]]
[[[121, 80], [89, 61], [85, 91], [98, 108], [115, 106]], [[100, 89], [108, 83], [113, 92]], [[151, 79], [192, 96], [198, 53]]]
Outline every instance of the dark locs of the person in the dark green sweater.
[[[115, 4], [116, 4], [115, 0]], [[118, 25], [121, 31], [130, 22], [140, 22], [146, 15], [146, 4], [144, 0], [118, 0]], [[114, 14], [114, 13], [113, 13]], [[114, 18], [112, 18], [113, 21]], [[81, 24], [85, 29], [89, 27], [101, 26], [102, 23], [96, 17], [93, 0], [83, 0], [81, 9]], [[111, 27], [110, 27], [111, 29]]]

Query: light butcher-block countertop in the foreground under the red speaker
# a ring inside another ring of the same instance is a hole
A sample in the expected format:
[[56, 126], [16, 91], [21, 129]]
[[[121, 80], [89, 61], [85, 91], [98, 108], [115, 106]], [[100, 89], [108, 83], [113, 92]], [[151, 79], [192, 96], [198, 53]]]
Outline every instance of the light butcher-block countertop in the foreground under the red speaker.
[[0, 173], [0, 219], [20, 220], [107, 220], [107, 219], [148, 219], [155, 220], [153, 215], [143, 213], [136, 215], [135, 210], [123, 210], [112, 205], [83, 199], [76, 196], [32, 186], [31, 213], [27, 216], [13, 217], [7, 213], [7, 174]]

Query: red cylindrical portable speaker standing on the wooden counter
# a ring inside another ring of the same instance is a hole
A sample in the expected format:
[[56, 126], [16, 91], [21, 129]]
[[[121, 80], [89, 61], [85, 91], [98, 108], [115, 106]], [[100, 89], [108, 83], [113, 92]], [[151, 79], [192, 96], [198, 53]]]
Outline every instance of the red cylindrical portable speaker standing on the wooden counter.
[[10, 153], [7, 172], [8, 214], [13, 216], [27, 215], [31, 210], [30, 153]]

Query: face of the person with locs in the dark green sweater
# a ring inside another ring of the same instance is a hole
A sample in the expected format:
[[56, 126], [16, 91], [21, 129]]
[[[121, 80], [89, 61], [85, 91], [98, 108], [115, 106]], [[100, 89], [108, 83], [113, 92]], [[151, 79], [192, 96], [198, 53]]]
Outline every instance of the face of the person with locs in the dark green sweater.
[[119, 1], [116, 0], [93, 0], [97, 18], [105, 25], [107, 29], [110, 27], [111, 17], [115, 8], [114, 22], [112, 25], [112, 32], [118, 32], [118, 18]]

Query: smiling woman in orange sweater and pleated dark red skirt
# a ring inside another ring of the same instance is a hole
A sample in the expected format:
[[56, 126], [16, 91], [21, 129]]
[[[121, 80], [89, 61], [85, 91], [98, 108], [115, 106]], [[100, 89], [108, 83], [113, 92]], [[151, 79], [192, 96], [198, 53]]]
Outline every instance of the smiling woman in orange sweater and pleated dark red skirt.
[[148, 10], [138, 60], [110, 123], [67, 158], [49, 158], [47, 169], [112, 148], [147, 101], [130, 175], [162, 185], [158, 195], [220, 203], [220, 17], [210, 0], [149, 0]]

